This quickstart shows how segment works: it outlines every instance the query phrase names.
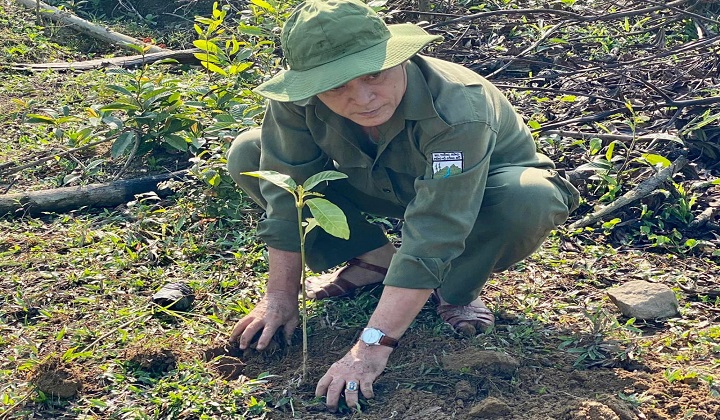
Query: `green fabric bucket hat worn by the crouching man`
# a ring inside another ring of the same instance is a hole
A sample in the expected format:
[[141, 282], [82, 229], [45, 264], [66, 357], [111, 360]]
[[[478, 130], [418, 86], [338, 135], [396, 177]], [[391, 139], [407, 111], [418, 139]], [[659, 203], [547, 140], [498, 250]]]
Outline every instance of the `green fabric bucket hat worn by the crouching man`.
[[283, 27], [288, 69], [254, 90], [280, 102], [307, 99], [395, 67], [440, 39], [413, 24], [385, 25], [360, 0], [307, 0]]

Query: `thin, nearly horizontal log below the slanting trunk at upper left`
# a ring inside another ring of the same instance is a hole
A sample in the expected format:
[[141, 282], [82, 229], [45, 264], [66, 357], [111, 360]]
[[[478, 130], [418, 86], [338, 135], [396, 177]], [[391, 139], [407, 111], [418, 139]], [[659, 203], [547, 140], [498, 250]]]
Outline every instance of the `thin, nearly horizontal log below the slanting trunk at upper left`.
[[158, 53], [149, 53], [145, 55], [130, 55], [127, 57], [98, 58], [88, 61], [76, 61], [73, 63], [19, 63], [13, 64], [13, 70], [93, 70], [102, 67], [137, 67], [143, 64], [151, 64], [160, 60], [173, 59], [181, 64], [198, 64], [199, 60], [195, 58], [195, 53], [201, 50], [191, 48], [189, 50], [179, 51], [163, 51]]

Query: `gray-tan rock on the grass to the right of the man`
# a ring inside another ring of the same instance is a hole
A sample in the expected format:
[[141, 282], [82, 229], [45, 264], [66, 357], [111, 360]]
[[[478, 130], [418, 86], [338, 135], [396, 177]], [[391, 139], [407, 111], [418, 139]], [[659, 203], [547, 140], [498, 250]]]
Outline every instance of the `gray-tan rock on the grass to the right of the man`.
[[630, 318], [656, 319], [678, 314], [675, 293], [664, 284], [636, 280], [607, 293], [623, 315]]

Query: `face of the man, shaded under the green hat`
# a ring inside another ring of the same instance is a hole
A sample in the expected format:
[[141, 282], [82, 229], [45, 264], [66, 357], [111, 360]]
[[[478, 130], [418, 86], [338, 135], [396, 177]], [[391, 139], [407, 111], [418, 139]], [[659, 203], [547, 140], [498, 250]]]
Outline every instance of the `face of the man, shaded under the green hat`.
[[363, 127], [377, 127], [395, 113], [407, 87], [405, 64], [366, 74], [317, 95], [331, 111]]

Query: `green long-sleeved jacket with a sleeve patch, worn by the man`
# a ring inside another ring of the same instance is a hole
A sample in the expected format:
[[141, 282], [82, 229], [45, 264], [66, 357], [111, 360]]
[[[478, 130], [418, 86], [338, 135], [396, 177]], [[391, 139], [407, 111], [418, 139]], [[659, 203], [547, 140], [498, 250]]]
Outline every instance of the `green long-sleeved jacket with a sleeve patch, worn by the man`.
[[[522, 118], [490, 82], [465, 67], [424, 57], [407, 66], [407, 90], [393, 117], [368, 141], [355, 123], [316, 97], [270, 101], [262, 125], [261, 170], [298, 183], [323, 170], [397, 209], [402, 245], [386, 285], [437, 288], [478, 217], [488, 175], [507, 166], [553, 168], [536, 152]], [[290, 195], [261, 183], [267, 218], [258, 233], [278, 249], [298, 249], [297, 213]]]

